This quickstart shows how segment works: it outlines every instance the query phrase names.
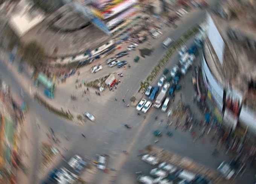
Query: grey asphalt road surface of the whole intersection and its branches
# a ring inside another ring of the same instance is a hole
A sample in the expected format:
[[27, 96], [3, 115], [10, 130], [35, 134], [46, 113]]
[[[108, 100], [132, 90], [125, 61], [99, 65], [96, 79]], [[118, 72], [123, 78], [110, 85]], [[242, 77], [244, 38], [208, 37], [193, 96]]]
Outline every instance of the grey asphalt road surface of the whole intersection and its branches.
[[[156, 129], [159, 123], [155, 122], [154, 117], [156, 115], [159, 117], [164, 115], [159, 110], [151, 109], [146, 115], [146, 120], [144, 120], [143, 117], [136, 115], [137, 112], [134, 108], [126, 108], [121, 100], [116, 102], [113, 96], [116, 96], [117, 99], [125, 99], [128, 101], [130, 97], [136, 93], [136, 90], [138, 90], [140, 81], [146, 78], [148, 73], [155, 66], [158, 58], [165, 52], [165, 49], [161, 46], [162, 40], [167, 36], [172, 37], [174, 40], [178, 39], [178, 37], [190, 27], [201, 22], [204, 19], [204, 14], [205, 11], [198, 9], [193, 15], [184, 19], [175, 31], [162, 36], [160, 40], [158, 40], [158, 45], [155, 46], [152, 55], [141, 59], [139, 63], [137, 63], [137, 66], [131, 69], [132, 72], [127, 72], [127, 79], [120, 84], [121, 86], [118, 87], [120, 89], [117, 90], [115, 94], [113, 93], [112, 97], [108, 97], [105, 103], [101, 105], [94, 103], [94, 101], [91, 100], [91, 98], [93, 98], [91, 94], [90, 102], [79, 100], [78, 103], [72, 104], [79, 106], [77, 109], [80, 112], [84, 110], [90, 111], [96, 117], [95, 123], [91, 123], [89, 120], [84, 126], [67, 123], [46, 111], [34, 101], [29, 94], [24, 92], [24, 100], [28, 103], [29, 115], [38, 118], [44, 126], [52, 127], [57, 138], [60, 140], [64, 139], [64, 135], [70, 138], [70, 143], [64, 145], [69, 150], [64, 155], [67, 159], [75, 153], [83, 157], [86, 155], [92, 159], [96, 159], [96, 154], [106, 153], [110, 155], [108, 166], [117, 166], [120, 169], [119, 173], [117, 173], [120, 177], [118, 177], [117, 180], [122, 182], [119, 183], [124, 183], [123, 181], [127, 180], [127, 178], [129, 178], [128, 181], [134, 181], [134, 172], [136, 172], [137, 169], [145, 171], [143, 168], [148, 168], [148, 165], [142, 163], [139, 158], [136, 157], [135, 153], [137, 150], [154, 141], [151, 135], [152, 130]], [[171, 65], [177, 62], [177, 60], [178, 58], [174, 57], [170, 62]], [[11, 90], [19, 94], [21, 85], [17, 82], [17, 79], [13, 77], [12, 73], [5, 70], [5, 66], [2, 66], [2, 63], [0, 64], [0, 72], [2, 73], [3, 79], [10, 84]], [[188, 77], [186, 83], [190, 80], [191, 78]], [[56, 99], [63, 98], [67, 100], [70, 93], [62, 92], [62, 95], [58, 96], [58, 93], [56, 94]], [[97, 101], [100, 102], [100, 99], [97, 99]], [[66, 103], [67, 102], [64, 101], [63, 105]], [[69, 102], [69, 104], [70, 103], [71, 102]], [[69, 106], [69, 108], [72, 108], [72, 105]], [[129, 130], [125, 129], [124, 124], [130, 124], [133, 128]], [[163, 124], [161, 126], [160, 128], [163, 129]], [[38, 130], [37, 126], [34, 124], [33, 132], [35, 138], [37, 137], [37, 131], [40, 130]], [[81, 136], [81, 133], [86, 135], [86, 139]], [[35, 139], [34, 142], [34, 158], [36, 158], [39, 154], [37, 151], [37, 139]], [[193, 145], [188, 134], [176, 131], [173, 139], [165, 139], [159, 142], [159, 146], [173, 150], [178, 154], [189, 156], [199, 162], [206, 163], [206, 165], [212, 168], [216, 167], [215, 161], [207, 159], [207, 155], [211, 153], [212, 148]], [[132, 154], [124, 158], [122, 150], [130, 150]], [[202, 156], [202, 154], [204, 154], [204, 156]], [[62, 161], [58, 165], [63, 165]], [[35, 172], [36, 168], [38, 168], [38, 162], [35, 162], [32, 168], [32, 171]], [[32, 177], [31, 181], [35, 181], [36, 176], [35, 174], [32, 175], [34, 178]], [[97, 177], [93, 183], [107, 183], [107, 180], [108, 175], [102, 171], [98, 171]]]

